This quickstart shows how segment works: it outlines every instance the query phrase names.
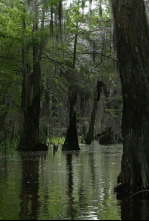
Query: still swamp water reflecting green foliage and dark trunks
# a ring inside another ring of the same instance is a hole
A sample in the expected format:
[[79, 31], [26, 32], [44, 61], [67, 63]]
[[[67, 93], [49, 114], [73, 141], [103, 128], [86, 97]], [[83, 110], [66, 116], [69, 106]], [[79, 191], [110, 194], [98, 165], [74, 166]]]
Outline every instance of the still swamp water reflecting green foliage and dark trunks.
[[[122, 146], [0, 152], [0, 220], [144, 220], [149, 203], [113, 193]], [[135, 203], [134, 203], [135, 202]]]

